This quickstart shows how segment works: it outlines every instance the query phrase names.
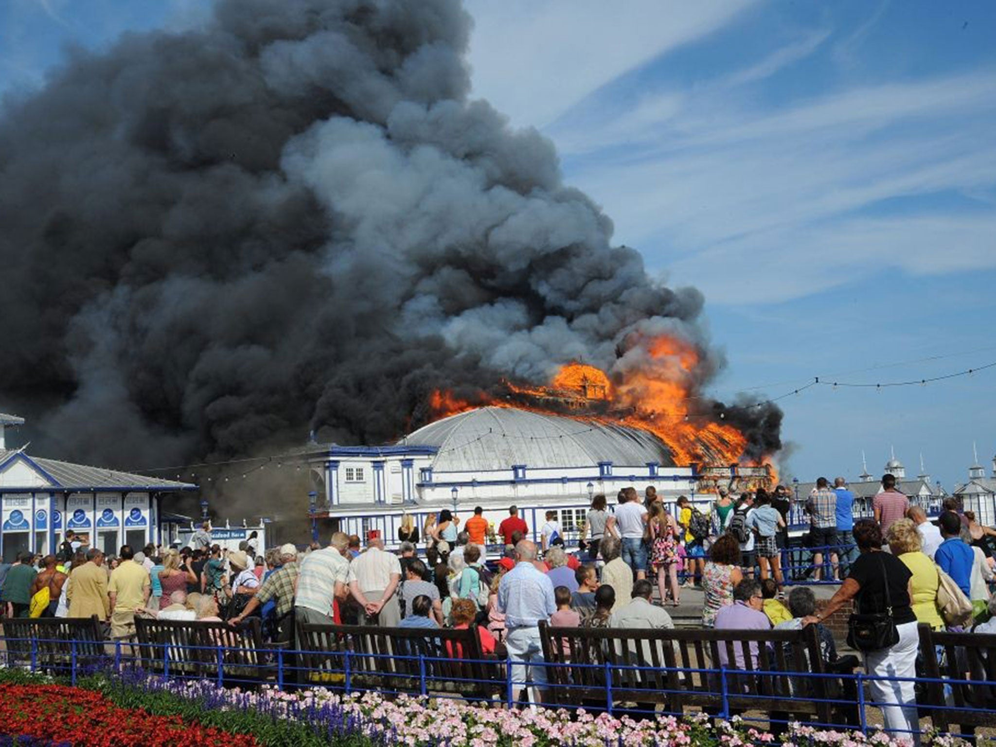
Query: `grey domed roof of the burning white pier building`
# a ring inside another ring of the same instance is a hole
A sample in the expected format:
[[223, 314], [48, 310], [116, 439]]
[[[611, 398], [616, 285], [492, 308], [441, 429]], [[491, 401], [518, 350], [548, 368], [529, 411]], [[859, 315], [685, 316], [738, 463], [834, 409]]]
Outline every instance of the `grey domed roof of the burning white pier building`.
[[399, 443], [435, 446], [439, 472], [583, 467], [611, 461], [673, 466], [667, 446], [645, 430], [515, 407], [479, 407], [429, 423]]

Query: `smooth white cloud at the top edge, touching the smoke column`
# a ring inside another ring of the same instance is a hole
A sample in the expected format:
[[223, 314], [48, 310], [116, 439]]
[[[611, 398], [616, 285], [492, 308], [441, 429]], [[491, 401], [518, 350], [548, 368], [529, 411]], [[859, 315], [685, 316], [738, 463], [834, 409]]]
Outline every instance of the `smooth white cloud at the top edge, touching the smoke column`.
[[550, 124], [623, 73], [702, 39], [753, 0], [467, 0], [474, 91], [513, 124]]

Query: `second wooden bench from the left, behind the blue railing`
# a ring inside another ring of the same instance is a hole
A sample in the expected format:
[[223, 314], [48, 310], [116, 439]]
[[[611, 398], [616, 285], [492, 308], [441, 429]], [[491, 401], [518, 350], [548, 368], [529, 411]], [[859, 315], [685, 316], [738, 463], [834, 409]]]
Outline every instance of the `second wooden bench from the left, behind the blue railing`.
[[235, 683], [277, 676], [276, 649], [263, 642], [259, 618], [227, 622], [135, 618], [137, 662], [162, 674], [201, 676]]

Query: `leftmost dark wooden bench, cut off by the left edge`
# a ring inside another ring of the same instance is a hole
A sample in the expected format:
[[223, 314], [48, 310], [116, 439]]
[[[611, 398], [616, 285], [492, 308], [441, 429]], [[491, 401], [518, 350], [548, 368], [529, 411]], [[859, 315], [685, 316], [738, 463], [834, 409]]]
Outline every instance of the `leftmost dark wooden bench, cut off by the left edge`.
[[[91, 618], [0, 618], [7, 666], [29, 666], [52, 674], [68, 674], [97, 666], [107, 658], [104, 630]], [[76, 642], [74, 642], [76, 641]]]

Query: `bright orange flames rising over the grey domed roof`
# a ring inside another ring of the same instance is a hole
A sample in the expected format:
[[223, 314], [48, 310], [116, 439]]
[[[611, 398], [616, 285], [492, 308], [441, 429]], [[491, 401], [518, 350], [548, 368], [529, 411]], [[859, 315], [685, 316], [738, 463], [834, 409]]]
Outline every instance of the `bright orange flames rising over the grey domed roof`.
[[[542, 412], [552, 411], [551, 402], [561, 405], [558, 409], [563, 409], [565, 403], [575, 410], [599, 405], [601, 409], [595, 414], [582, 411], [569, 416], [594, 417], [650, 431], [670, 448], [679, 465], [728, 467], [743, 463], [747, 446], [744, 434], [695, 406], [698, 397], [694, 394], [693, 373], [699, 364], [695, 347], [669, 336], [654, 337], [641, 347], [646, 359], [620, 375], [615, 384], [593, 366], [571, 363], [554, 375], [549, 386], [506, 382], [514, 400], [496, 399], [481, 392], [481, 400], [471, 403], [447, 391], [434, 391], [429, 406], [434, 417], [444, 417], [485, 404]], [[528, 401], [521, 401], [524, 398]], [[770, 460], [765, 459], [765, 465], [777, 478]]]

